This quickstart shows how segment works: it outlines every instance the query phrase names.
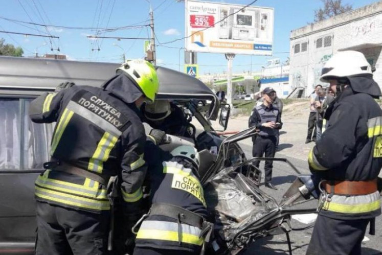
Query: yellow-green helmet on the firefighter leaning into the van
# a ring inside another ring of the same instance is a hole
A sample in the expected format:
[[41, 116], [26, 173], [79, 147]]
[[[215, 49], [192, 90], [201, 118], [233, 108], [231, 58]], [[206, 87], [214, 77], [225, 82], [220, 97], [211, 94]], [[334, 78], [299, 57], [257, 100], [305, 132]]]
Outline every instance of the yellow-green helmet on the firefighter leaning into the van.
[[155, 67], [150, 62], [143, 59], [127, 60], [117, 69], [117, 73], [123, 73], [131, 78], [149, 103], [154, 102], [159, 89], [159, 80]]

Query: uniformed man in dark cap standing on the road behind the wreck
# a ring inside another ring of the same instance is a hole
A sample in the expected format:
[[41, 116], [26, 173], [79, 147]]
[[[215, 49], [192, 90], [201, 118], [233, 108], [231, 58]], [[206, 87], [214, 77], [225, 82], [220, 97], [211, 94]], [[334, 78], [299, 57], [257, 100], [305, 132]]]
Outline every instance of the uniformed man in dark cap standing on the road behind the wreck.
[[[282, 127], [280, 111], [273, 107], [276, 91], [266, 87], [262, 91], [263, 103], [252, 110], [249, 119], [249, 127], [256, 126], [259, 133], [252, 138], [252, 155], [254, 157], [274, 157], [276, 153], [278, 130]], [[260, 161], [254, 161], [253, 165], [259, 167]], [[277, 188], [272, 184], [273, 161], [265, 160], [265, 187], [273, 190]]]

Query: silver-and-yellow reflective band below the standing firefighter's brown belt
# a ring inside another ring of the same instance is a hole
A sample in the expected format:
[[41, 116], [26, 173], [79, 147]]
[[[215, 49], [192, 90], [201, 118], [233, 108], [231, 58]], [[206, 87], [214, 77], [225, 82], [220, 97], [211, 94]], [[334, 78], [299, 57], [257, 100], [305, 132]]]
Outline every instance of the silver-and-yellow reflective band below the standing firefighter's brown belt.
[[361, 196], [333, 195], [330, 202], [325, 202], [323, 210], [344, 214], [370, 213], [380, 207], [380, 194], [378, 191]]

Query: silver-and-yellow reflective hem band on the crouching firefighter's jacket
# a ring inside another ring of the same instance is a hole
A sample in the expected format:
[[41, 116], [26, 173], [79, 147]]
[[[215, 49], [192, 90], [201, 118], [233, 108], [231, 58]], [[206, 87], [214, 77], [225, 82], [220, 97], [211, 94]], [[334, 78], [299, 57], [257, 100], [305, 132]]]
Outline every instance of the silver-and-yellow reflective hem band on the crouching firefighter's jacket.
[[[204, 239], [199, 238], [201, 229], [188, 225], [181, 224], [182, 235], [180, 240], [182, 243], [194, 244], [201, 246]], [[137, 239], [154, 239], [161, 241], [179, 242], [178, 239], [178, 223], [145, 220], [139, 228]]]

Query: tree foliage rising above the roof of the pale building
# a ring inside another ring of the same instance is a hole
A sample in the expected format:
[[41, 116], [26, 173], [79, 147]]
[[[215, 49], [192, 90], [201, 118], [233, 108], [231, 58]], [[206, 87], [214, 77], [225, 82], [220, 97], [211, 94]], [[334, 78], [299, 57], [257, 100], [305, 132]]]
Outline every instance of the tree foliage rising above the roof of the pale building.
[[353, 9], [351, 5], [343, 4], [342, 0], [321, 0], [321, 2], [324, 4], [324, 7], [314, 10], [314, 22], [325, 20]]

